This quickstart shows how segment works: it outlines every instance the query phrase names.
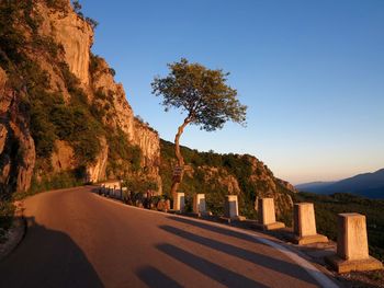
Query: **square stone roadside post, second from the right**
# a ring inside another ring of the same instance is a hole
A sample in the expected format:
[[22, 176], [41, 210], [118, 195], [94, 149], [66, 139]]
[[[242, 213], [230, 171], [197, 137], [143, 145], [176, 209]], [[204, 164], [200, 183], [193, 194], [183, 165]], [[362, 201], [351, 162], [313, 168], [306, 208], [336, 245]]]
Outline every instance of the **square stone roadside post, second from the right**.
[[317, 234], [315, 208], [313, 203], [297, 203], [293, 207], [294, 242], [296, 244], [309, 244], [328, 242], [328, 238]]

